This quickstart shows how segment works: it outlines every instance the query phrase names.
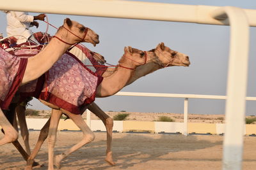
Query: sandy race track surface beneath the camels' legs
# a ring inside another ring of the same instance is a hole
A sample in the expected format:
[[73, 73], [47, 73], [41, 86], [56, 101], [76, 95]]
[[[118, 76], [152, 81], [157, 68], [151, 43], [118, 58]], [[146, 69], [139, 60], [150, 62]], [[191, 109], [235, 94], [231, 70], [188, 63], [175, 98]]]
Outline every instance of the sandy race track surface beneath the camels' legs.
[[[38, 131], [30, 131], [35, 146]], [[115, 167], [104, 162], [106, 133], [96, 132], [95, 141], [63, 160], [61, 169], [221, 169], [223, 136], [179, 134], [113, 134]], [[0, 138], [3, 134], [0, 134]], [[58, 132], [55, 153], [61, 153], [81, 139], [81, 132]], [[244, 137], [243, 169], [256, 167], [256, 138]], [[47, 169], [47, 144], [36, 160]], [[23, 169], [22, 160], [12, 144], [0, 146], [0, 169]]]

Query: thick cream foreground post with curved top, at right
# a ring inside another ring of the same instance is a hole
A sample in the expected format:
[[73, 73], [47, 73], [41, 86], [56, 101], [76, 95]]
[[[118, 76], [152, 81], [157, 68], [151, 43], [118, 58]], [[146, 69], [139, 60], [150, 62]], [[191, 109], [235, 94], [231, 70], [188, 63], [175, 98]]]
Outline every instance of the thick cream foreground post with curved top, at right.
[[243, 160], [244, 117], [249, 51], [249, 24], [243, 9], [225, 6], [213, 17], [230, 23], [223, 169], [240, 170]]

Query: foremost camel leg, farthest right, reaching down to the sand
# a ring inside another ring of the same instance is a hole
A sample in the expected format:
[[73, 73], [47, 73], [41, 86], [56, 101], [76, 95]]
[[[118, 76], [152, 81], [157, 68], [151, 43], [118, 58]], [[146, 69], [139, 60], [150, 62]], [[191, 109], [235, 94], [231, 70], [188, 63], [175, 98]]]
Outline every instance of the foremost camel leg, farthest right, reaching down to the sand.
[[96, 103], [90, 104], [88, 110], [92, 111], [97, 117], [102, 120], [107, 131], [107, 149], [106, 149], [106, 162], [111, 166], [115, 166], [115, 162], [112, 158], [112, 131], [113, 131], [113, 119], [109, 117], [104, 111], [102, 111]]

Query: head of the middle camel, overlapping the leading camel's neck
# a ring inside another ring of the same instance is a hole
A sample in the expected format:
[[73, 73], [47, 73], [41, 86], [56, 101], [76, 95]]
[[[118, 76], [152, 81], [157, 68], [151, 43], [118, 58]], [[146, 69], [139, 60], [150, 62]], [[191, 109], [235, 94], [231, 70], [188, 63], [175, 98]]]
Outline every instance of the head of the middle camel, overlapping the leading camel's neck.
[[147, 64], [148, 62], [152, 62], [155, 57], [156, 55], [154, 52], [145, 52], [132, 48], [131, 46], [125, 46], [124, 55], [118, 63], [122, 66], [135, 68], [137, 66]]

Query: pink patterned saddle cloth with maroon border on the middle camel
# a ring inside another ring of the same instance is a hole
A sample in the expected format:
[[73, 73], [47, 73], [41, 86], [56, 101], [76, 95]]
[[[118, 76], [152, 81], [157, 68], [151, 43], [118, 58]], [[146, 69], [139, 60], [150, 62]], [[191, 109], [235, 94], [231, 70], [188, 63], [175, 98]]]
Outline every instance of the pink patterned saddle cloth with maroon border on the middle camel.
[[[38, 33], [37, 33], [38, 35]], [[41, 40], [41, 36], [35, 36]], [[50, 37], [51, 39], [51, 37]], [[44, 41], [40, 41], [44, 43]], [[42, 46], [20, 48], [13, 55], [26, 59], [40, 52]], [[106, 67], [93, 67], [99, 64], [93, 53], [81, 45], [74, 47], [76, 55], [66, 52], [54, 66], [37, 80], [31, 81], [19, 88], [21, 101], [33, 96], [74, 114], [81, 114], [86, 106], [95, 100], [95, 90], [102, 81]], [[72, 49], [73, 50], [73, 49]], [[78, 52], [78, 53], [77, 53]], [[86, 67], [90, 65], [90, 67]]]

